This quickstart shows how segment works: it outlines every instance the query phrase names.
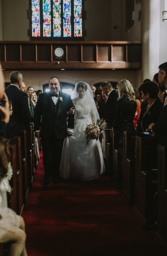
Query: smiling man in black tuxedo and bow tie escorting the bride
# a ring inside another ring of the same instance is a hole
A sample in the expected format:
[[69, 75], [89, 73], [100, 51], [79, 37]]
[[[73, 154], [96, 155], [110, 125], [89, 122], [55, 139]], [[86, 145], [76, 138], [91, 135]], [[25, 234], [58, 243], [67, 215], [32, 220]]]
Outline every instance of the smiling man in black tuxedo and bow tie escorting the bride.
[[[64, 138], [72, 135], [74, 115], [68, 111], [74, 108], [70, 95], [59, 91], [60, 81], [53, 76], [49, 79], [50, 92], [39, 94], [34, 111], [36, 137], [41, 137], [44, 162], [44, 185], [59, 183], [60, 161]], [[74, 113], [74, 110], [72, 110]], [[42, 117], [42, 119], [41, 119]], [[39, 132], [41, 128], [41, 131]]]

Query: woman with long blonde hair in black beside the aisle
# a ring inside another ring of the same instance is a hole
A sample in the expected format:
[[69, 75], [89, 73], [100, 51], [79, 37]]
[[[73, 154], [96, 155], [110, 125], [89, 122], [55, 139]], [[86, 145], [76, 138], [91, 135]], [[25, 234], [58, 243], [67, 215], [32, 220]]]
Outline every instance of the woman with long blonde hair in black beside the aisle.
[[[131, 131], [132, 136], [135, 136], [133, 119], [136, 112], [137, 103], [133, 87], [128, 80], [121, 80], [117, 84], [117, 88], [119, 93], [119, 101], [113, 122], [114, 148], [118, 149], [118, 154], [123, 160], [123, 130]], [[121, 176], [121, 183], [118, 183], [117, 185], [117, 188], [119, 189], [122, 188], [123, 173]]]

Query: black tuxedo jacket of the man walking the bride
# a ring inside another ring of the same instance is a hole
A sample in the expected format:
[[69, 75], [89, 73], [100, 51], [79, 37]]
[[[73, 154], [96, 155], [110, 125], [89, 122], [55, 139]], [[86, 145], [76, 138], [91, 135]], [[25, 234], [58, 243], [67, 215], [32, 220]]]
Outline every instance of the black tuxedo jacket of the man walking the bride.
[[[60, 101], [60, 97], [62, 97], [62, 102]], [[66, 137], [67, 127], [74, 128], [74, 115], [69, 115], [67, 126], [67, 111], [74, 107], [74, 105], [70, 95], [59, 91], [59, 100], [56, 104], [58, 110], [55, 116], [52, 101], [50, 92], [39, 94], [34, 111], [34, 129], [41, 129], [41, 138], [49, 138], [54, 132], [58, 139], [64, 139]]]

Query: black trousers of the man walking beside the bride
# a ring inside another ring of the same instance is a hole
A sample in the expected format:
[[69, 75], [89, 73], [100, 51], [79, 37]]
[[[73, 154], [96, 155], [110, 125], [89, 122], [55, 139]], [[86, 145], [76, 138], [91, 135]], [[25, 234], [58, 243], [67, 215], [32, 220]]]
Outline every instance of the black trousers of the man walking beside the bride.
[[49, 138], [41, 138], [44, 163], [44, 179], [60, 177], [60, 162], [64, 139], [58, 139], [53, 133]]

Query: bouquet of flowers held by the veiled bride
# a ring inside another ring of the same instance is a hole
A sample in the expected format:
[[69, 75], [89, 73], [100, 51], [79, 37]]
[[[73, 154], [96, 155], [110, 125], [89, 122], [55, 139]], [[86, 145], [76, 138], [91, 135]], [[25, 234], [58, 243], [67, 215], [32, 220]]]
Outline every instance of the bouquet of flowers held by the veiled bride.
[[84, 133], [86, 134], [87, 144], [89, 141], [92, 141], [93, 139], [98, 140], [99, 138], [103, 137], [103, 134], [100, 131], [99, 126], [97, 126], [96, 124], [87, 125]]

